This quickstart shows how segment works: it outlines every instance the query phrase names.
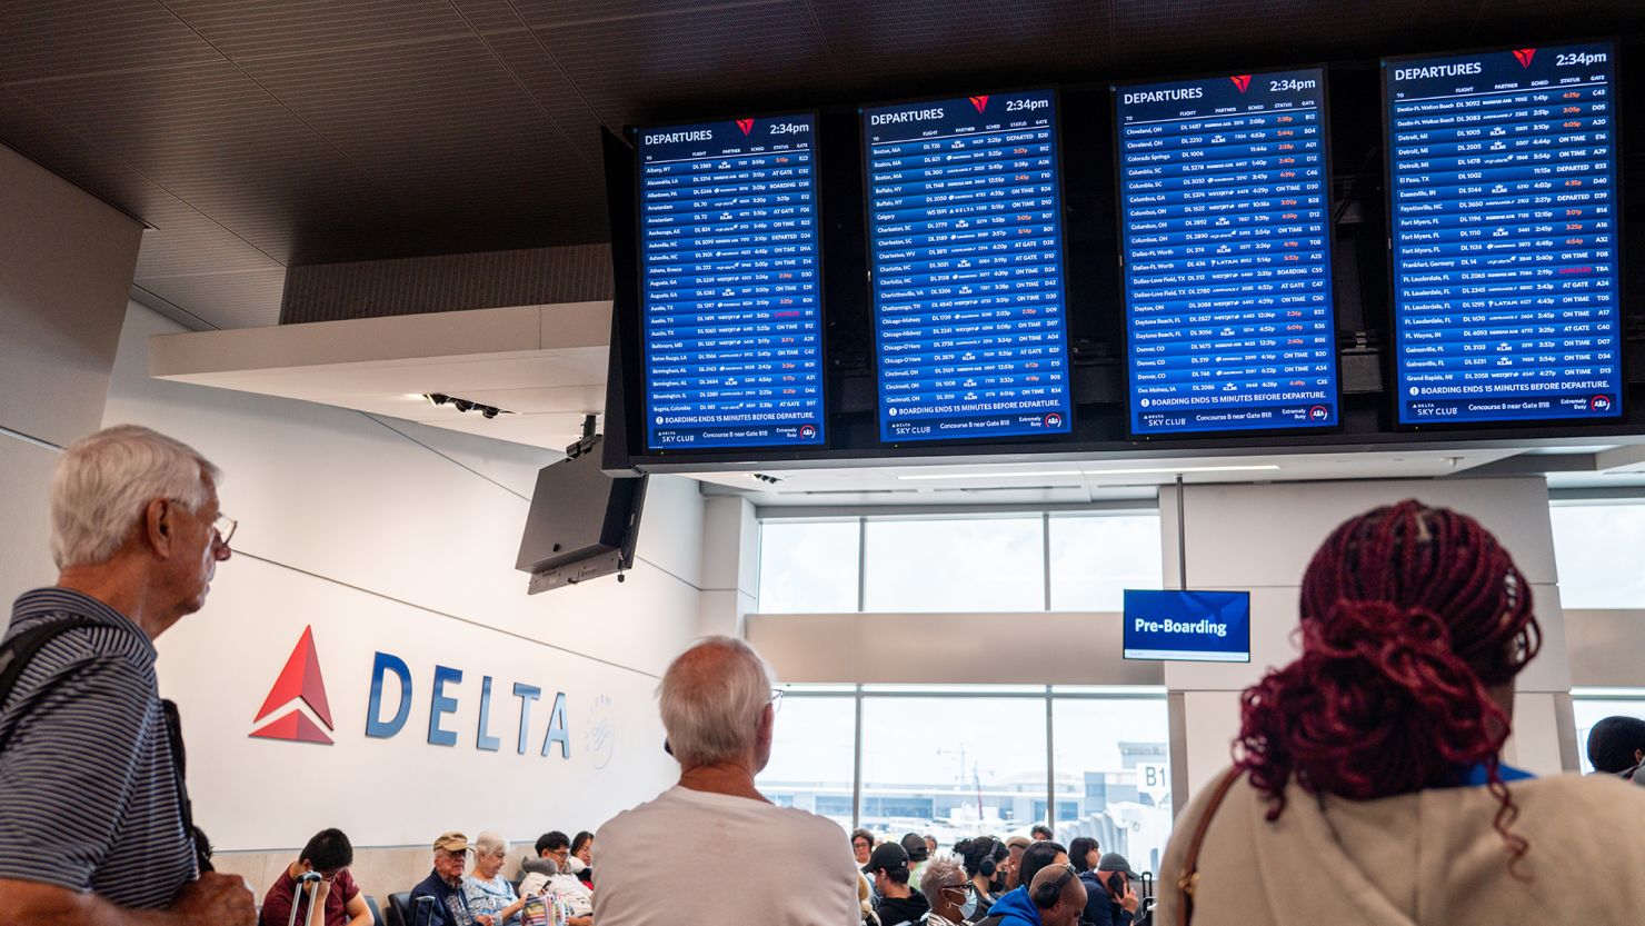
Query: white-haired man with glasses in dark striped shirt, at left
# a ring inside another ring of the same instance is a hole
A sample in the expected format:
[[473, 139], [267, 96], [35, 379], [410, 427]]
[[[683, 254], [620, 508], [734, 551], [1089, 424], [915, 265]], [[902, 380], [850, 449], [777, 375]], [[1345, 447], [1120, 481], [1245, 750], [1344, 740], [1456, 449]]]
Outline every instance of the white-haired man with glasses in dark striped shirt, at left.
[[0, 926], [250, 926], [252, 891], [201, 873], [176, 711], [155, 638], [206, 605], [234, 521], [217, 467], [148, 428], [64, 451], [58, 584], [16, 599], [0, 643]]

